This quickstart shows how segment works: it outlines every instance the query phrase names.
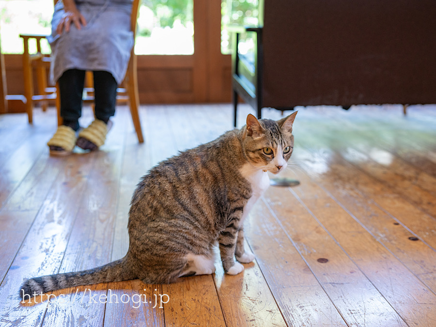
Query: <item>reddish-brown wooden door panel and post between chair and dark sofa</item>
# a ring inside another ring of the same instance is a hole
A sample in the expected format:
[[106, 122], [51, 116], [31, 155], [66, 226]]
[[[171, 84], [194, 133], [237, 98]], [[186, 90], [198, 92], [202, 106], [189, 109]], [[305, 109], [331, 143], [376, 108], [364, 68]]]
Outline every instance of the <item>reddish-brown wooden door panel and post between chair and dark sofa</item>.
[[[194, 0], [193, 55], [138, 55], [141, 103], [229, 102], [231, 98], [231, 58], [221, 54], [221, 0]], [[153, 86], [141, 88], [153, 72], [166, 72], [159, 82], [188, 83], [164, 91]], [[182, 72], [190, 75], [183, 76]], [[173, 78], [171, 78], [171, 75]], [[168, 78], [168, 79], [167, 79]], [[177, 81], [180, 78], [180, 81]], [[192, 92], [187, 92], [191, 89]]]

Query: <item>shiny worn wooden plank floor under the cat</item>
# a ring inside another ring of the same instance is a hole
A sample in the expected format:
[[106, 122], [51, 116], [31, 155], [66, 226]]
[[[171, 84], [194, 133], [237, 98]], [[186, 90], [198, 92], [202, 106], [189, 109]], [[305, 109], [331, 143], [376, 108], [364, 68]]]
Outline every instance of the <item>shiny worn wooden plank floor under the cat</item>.
[[[240, 126], [250, 112], [240, 106]], [[214, 275], [171, 285], [105, 283], [20, 303], [24, 278], [122, 258], [140, 177], [233, 121], [229, 104], [140, 116], [144, 144], [120, 107], [100, 151], [65, 158], [48, 156], [53, 109], [35, 109], [33, 125], [0, 116], [0, 326], [436, 326], [436, 106], [300, 108], [282, 176], [301, 184], [270, 187], [256, 204], [245, 233], [256, 260], [237, 276], [217, 260]]]

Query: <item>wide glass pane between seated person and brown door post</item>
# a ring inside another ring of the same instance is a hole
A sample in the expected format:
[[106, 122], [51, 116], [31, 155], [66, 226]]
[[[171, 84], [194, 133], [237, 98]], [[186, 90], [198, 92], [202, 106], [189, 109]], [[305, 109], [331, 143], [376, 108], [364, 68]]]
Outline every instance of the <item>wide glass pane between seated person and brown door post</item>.
[[142, 0], [135, 53], [194, 53], [193, 0]]

